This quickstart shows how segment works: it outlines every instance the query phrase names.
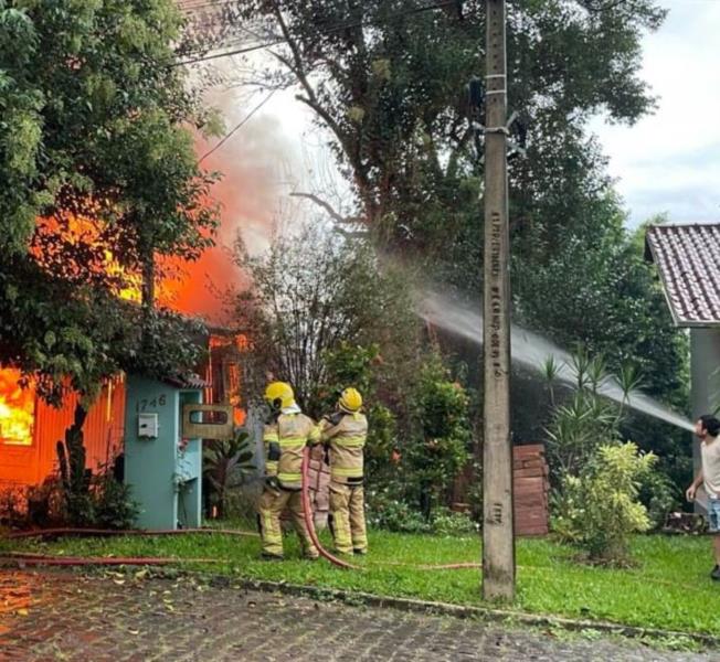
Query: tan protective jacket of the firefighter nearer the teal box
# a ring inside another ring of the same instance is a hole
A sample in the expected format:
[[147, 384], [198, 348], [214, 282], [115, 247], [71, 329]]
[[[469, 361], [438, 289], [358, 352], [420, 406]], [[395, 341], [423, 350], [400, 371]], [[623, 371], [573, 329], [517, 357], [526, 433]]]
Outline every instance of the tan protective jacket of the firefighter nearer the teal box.
[[303, 476], [303, 449], [320, 440], [320, 431], [297, 405], [285, 407], [265, 424], [265, 476], [277, 478], [285, 490], [299, 490]]

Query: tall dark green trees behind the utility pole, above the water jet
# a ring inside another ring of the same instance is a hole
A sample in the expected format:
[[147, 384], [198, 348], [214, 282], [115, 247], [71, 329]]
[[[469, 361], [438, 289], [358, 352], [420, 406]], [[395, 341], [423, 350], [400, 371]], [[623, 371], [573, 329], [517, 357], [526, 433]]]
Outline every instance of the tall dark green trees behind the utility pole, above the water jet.
[[[528, 135], [527, 158], [510, 163], [511, 253], [518, 321], [607, 353], [612, 367], [637, 357], [650, 392], [678, 402], [682, 339], [586, 131], [594, 114], [633, 122], [653, 109], [640, 38], [665, 14], [654, 0], [508, 7], [509, 99]], [[483, 3], [243, 0], [234, 20], [279, 42], [277, 66], [264, 61], [253, 81], [294, 87], [315, 113], [383, 250], [480, 291], [483, 164], [464, 90], [484, 71]]]

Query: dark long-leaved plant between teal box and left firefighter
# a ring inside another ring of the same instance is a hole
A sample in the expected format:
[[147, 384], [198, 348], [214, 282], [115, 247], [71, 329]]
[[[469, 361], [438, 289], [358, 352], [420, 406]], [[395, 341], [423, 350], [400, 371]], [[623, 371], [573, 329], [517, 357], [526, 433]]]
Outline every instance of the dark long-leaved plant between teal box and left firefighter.
[[202, 477], [208, 504], [218, 508], [218, 516], [227, 514], [227, 491], [255, 470], [250, 436], [237, 430], [233, 439], [211, 439], [203, 444]]

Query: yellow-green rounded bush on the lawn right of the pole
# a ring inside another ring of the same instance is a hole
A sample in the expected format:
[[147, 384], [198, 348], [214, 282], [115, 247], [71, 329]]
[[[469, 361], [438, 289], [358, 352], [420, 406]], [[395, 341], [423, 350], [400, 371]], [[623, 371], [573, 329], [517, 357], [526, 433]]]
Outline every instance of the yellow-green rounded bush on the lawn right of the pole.
[[626, 560], [631, 534], [652, 526], [638, 495], [655, 461], [653, 453], [638, 452], [632, 442], [601, 446], [578, 476], [564, 476], [554, 531], [592, 560]]

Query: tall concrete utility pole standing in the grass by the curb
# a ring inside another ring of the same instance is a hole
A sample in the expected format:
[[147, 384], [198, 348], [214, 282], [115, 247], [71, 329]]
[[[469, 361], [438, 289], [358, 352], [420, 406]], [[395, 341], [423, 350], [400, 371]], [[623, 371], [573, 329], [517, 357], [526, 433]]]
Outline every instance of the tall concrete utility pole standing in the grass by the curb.
[[505, 0], [487, 0], [483, 597], [515, 596]]

